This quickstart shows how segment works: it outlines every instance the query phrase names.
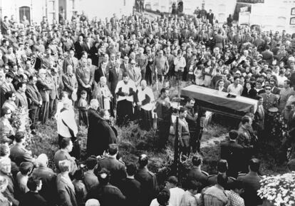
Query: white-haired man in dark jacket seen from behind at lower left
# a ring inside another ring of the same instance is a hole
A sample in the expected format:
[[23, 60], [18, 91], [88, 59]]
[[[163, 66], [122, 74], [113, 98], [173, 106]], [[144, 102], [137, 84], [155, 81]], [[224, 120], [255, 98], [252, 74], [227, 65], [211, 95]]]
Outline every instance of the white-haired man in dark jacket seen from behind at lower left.
[[39, 177], [42, 180], [42, 188], [39, 191], [40, 195], [49, 203], [53, 205], [55, 203], [56, 190], [55, 187], [56, 173], [48, 168], [48, 157], [45, 154], [38, 155], [36, 159], [37, 168], [33, 170], [32, 175]]

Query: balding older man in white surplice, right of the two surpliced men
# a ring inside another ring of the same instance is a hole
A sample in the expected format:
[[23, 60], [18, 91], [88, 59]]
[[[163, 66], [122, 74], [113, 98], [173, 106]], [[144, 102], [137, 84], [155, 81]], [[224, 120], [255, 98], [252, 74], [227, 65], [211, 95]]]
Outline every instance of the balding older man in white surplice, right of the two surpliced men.
[[140, 82], [140, 88], [137, 91], [137, 104], [139, 107], [140, 128], [150, 130], [152, 128], [152, 108], [155, 101], [152, 89], [148, 87], [147, 81]]

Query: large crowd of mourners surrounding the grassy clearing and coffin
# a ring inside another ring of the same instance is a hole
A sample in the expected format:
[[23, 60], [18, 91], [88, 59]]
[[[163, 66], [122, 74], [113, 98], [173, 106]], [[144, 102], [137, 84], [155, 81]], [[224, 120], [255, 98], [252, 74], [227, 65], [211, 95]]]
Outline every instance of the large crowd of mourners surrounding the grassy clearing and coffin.
[[[176, 13], [155, 20], [116, 14], [90, 20], [82, 13], [53, 24], [46, 17], [29, 24], [26, 18], [18, 22], [14, 15], [4, 16], [0, 205], [262, 204], [257, 196], [260, 163], [253, 156], [274, 114], [288, 125], [281, 148], [291, 148], [289, 158], [295, 158], [295, 34], [239, 26], [231, 16], [219, 24], [204, 8], [192, 16]], [[256, 99], [257, 111], [244, 115], [239, 128], [229, 132], [220, 144], [218, 173], [208, 175], [200, 156], [205, 111], [187, 98], [177, 108], [175, 131], [180, 153], [192, 156], [193, 167], [183, 189], [170, 176], [160, 190], [148, 170], [148, 155], [140, 155], [138, 165], [123, 162], [114, 122], [121, 127], [137, 120], [142, 130], [151, 130], [156, 119], [157, 147], [165, 148], [175, 112], [166, 85], [179, 81]], [[152, 88], [159, 85], [156, 97]], [[11, 125], [19, 108], [29, 110], [33, 135], [48, 119], [56, 120], [56, 168], [48, 168], [46, 154], [27, 150], [25, 133]], [[86, 167], [79, 165], [78, 125], [88, 128]]]

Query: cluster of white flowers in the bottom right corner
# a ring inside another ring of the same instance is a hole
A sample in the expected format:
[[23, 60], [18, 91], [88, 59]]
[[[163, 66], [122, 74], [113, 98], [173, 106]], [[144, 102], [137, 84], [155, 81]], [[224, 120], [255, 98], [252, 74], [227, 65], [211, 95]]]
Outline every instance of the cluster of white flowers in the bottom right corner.
[[295, 172], [284, 175], [263, 176], [258, 190], [266, 206], [295, 205]]

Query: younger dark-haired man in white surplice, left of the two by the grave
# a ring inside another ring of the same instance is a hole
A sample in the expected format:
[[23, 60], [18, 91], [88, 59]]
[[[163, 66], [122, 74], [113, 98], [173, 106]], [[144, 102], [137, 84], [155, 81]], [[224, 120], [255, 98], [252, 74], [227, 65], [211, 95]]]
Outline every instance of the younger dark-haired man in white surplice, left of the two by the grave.
[[133, 96], [136, 87], [134, 81], [129, 79], [128, 73], [123, 73], [123, 80], [115, 88], [117, 99], [117, 123], [119, 126], [133, 119]]

